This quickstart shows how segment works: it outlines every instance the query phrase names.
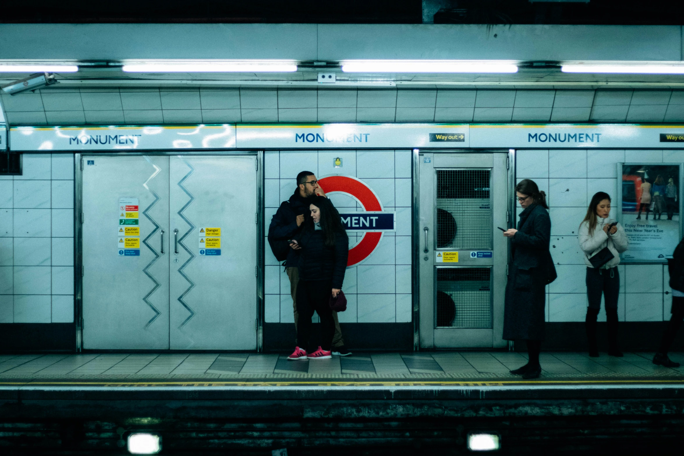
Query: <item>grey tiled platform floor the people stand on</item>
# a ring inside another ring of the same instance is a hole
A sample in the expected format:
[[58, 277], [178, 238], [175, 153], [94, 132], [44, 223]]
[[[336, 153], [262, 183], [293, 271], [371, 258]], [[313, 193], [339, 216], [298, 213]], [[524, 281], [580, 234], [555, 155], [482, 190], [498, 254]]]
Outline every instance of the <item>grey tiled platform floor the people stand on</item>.
[[[434, 351], [354, 353], [332, 360], [289, 361], [287, 354], [257, 353], [83, 353], [0, 355], [0, 383], [39, 380], [185, 379], [519, 379], [510, 369], [525, 364], [525, 353]], [[677, 379], [684, 367], [655, 366], [653, 353], [542, 353], [544, 379]], [[684, 364], [684, 353], [670, 353]]]

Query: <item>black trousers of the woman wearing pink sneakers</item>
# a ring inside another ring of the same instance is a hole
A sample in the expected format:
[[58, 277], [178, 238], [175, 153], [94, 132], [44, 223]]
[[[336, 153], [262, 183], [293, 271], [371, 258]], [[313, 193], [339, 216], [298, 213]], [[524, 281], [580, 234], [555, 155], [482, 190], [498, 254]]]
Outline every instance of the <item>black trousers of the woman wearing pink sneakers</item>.
[[[300, 280], [297, 284], [297, 345], [309, 353], [316, 351], [318, 345], [329, 351], [332, 347], [332, 336], [335, 322], [330, 310], [332, 282], [329, 280]], [[311, 317], [313, 312], [321, 319], [319, 342], [311, 340]]]

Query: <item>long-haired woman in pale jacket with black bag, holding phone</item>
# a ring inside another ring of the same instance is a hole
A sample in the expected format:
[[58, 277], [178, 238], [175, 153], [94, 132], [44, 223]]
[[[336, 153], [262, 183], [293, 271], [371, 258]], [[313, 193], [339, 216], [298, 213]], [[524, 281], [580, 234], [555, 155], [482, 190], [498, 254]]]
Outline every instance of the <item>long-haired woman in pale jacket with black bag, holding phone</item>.
[[[596, 318], [601, 310], [601, 295], [605, 298], [608, 330], [608, 354], [622, 356], [618, 349], [618, 296], [620, 294], [620, 254], [629, 247], [624, 228], [610, 218], [610, 196], [599, 191], [592, 196], [587, 215], [579, 225], [579, 247], [587, 265], [587, 316], [585, 329], [589, 356], [599, 356], [596, 342]], [[607, 251], [604, 251], [607, 249]], [[610, 254], [607, 254], [610, 252]], [[603, 263], [603, 264], [601, 264]]]

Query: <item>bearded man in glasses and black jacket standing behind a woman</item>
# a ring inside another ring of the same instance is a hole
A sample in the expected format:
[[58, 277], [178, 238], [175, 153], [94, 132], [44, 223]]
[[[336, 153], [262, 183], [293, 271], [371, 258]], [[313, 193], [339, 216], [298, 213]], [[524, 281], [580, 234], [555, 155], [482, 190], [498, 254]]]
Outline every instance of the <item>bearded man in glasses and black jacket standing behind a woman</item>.
[[[289, 200], [283, 201], [271, 219], [269, 235], [275, 239], [288, 240], [295, 237], [300, 232], [304, 219], [311, 217], [308, 209], [307, 198], [311, 196], [326, 196], [326, 192], [318, 185], [316, 176], [311, 171], [302, 171], [297, 174], [297, 188]], [[326, 197], [327, 198], [327, 197]], [[285, 260], [285, 271], [290, 280], [290, 294], [292, 296], [292, 306], [295, 316], [295, 329], [297, 328], [297, 284], [299, 283], [299, 257], [300, 252], [290, 249]], [[335, 334], [332, 337], [332, 354], [347, 356], [352, 353], [344, 346], [340, 323], [337, 319], [337, 312], [332, 312], [332, 319], [335, 322]]]

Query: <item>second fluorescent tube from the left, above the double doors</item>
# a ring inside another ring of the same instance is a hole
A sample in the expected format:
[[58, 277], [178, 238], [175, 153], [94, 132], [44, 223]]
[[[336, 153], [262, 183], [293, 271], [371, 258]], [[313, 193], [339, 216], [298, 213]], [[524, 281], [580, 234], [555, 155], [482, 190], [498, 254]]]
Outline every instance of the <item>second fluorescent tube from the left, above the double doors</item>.
[[231, 62], [231, 63], [147, 63], [124, 65], [124, 72], [293, 72], [297, 65], [292, 62]]

